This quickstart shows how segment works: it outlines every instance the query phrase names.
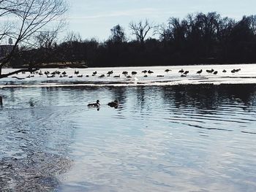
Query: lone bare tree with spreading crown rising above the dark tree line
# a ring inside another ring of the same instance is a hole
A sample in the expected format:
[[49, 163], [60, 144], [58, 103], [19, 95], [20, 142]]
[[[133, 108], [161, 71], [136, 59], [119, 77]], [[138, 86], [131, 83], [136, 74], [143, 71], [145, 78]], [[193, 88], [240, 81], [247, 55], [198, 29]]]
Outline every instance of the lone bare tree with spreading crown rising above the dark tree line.
[[129, 23], [129, 28], [132, 30], [132, 34], [136, 36], [138, 41], [143, 44], [148, 32], [157, 28], [157, 26], [154, 26], [153, 23], [148, 23], [148, 20], [146, 19], [145, 22], [140, 20], [139, 23]]

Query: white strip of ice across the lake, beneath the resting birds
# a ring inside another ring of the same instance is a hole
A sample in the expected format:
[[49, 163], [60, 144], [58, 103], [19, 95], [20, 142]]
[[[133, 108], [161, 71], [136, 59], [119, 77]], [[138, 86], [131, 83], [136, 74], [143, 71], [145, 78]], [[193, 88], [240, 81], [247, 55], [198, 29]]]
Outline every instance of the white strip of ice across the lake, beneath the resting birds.
[[[170, 72], [165, 72], [170, 69]], [[188, 71], [181, 77], [181, 69]], [[202, 69], [202, 72], [197, 72]], [[206, 72], [206, 70], [211, 73]], [[233, 69], [241, 69], [232, 72]], [[151, 74], [143, 73], [150, 70]], [[13, 69], [2, 69], [3, 74], [12, 72]], [[66, 75], [56, 74], [55, 77], [47, 77], [45, 72], [66, 72]], [[74, 74], [79, 71], [79, 74]], [[107, 73], [113, 71], [108, 77]], [[226, 71], [226, 72], [223, 72]], [[0, 79], [0, 88], [16, 87], [70, 87], [70, 86], [140, 86], [140, 85], [199, 85], [199, 84], [256, 84], [256, 64], [236, 65], [201, 65], [201, 66], [140, 66], [140, 67], [108, 67], [87, 69], [41, 69], [43, 75], [15, 74]], [[97, 74], [93, 75], [93, 72]], [[122, 72], [128, 72], [128, 78]], [[137, 74], [132, 75], [132, 72]], [[217, 73], [217, 74], [214, 74]], [[103, 76], [104, 77], [100, 77]], [[79, 76], [78, 76], [79, 75]], [[118, 77], [120, 75], [120, 77]], [[114, 77], [116, 76], [116, 77]], [[147, 77], [146, 77], [147, 76]], [[20, 78], [18, 80], [17, 78]]]

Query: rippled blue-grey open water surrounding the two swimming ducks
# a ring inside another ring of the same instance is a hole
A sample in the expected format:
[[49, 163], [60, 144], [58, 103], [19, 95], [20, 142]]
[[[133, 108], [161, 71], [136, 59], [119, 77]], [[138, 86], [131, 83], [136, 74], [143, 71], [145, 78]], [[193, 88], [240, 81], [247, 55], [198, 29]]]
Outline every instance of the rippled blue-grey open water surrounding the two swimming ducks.
[[0, 191], [256, 191], [256, 85], [0, 96]]

